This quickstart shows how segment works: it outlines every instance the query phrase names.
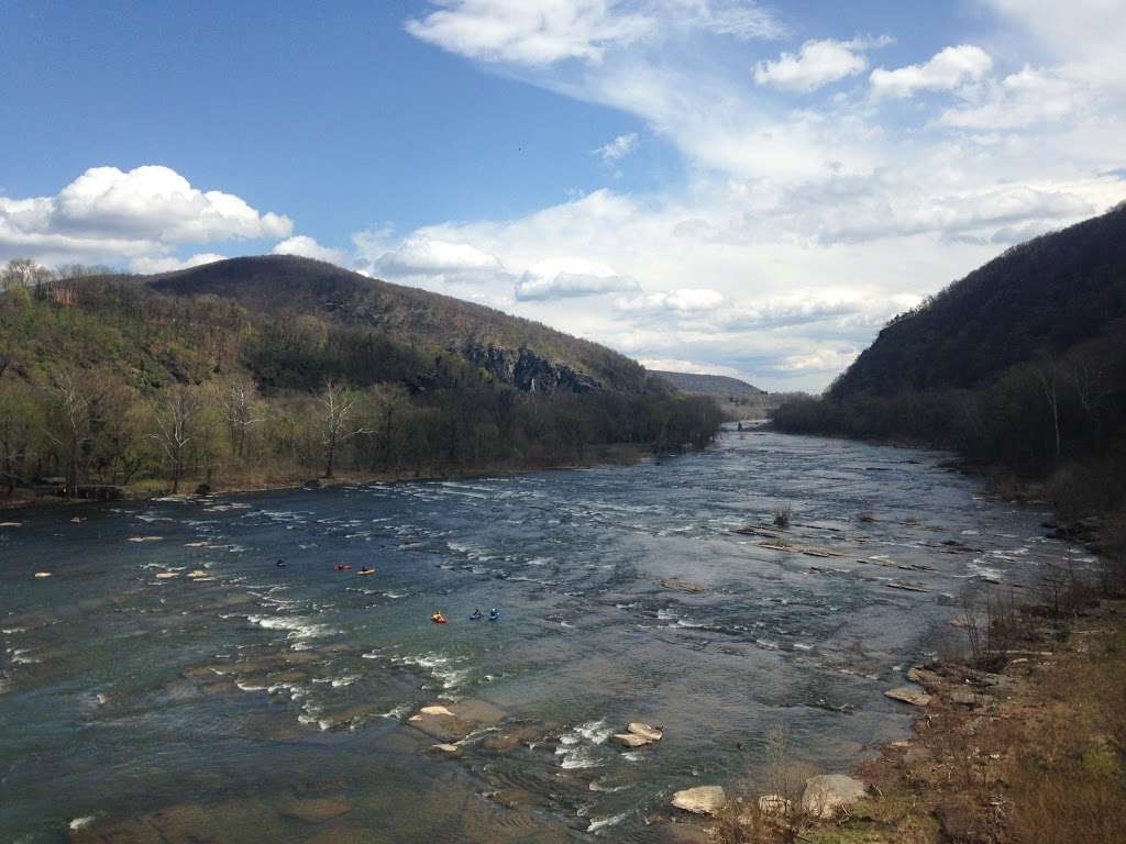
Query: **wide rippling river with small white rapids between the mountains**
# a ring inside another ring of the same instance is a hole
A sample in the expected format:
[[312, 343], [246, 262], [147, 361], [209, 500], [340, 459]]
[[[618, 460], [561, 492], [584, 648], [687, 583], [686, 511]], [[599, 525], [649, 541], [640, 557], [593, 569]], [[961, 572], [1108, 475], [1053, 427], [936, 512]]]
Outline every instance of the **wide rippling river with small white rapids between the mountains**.
[[[967, 585], [1079, 556], [941, 457], [729, 432], [628, 468], [9, 511], [0, 838], [661, 841], [670, 793], [753, 780], [775, 726], [847, 769], [908, 729], [883, 691]], [[434, 703], [456, 757], [409, 720]], [[629, 720], [664, 739], [617, 748]]]

